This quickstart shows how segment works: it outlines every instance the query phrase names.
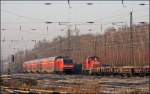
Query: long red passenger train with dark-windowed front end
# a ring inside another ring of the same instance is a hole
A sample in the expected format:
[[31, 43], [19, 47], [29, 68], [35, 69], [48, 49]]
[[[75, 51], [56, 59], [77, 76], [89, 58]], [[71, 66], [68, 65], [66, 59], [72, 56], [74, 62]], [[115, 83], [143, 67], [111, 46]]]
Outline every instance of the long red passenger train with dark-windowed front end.
[[24, 72], [54, 73], [73, 72], [73, 60], [68, 57], [49, 57], [23, 63]]

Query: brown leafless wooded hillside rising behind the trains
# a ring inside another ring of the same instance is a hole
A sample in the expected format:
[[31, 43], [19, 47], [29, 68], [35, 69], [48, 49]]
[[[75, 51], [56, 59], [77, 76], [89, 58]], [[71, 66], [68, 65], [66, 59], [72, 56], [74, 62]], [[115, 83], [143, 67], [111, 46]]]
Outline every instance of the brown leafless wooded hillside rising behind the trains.
[[[149, 61], [149, 24], [133, 26], [133, 42], [130, 28], [110, 27], [104, 34], [72, 35], [57, 37], [53, 41], [41, 41], [32, 50], [15, 54], [16, 69], [20, 70], [24, 61], [50, 57], [70, 56], [75, 63], [82, 63], [89, 56], [99, 56], [101, 60], [112, 66], [143, 66]], [[132, 49], [133, 48], [133, 54]], [[132, 56], [133, 55], [133, 56]]]

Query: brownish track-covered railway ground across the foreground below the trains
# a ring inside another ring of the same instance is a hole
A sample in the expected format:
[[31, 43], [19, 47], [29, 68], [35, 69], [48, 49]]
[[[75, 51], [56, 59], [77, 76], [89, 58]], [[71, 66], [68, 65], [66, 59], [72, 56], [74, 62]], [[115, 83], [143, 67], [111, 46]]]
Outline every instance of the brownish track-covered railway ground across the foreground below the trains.
[[[83, 75], [13, 74], [6, 78], [4, 77], [4, 80], [7, 84], [3, 88], [10, 93], [77, 94], [84, 92], [86, 94], [90, 92], [95, 94], [98, 92], [98, 94], [122, 94], [119, 92], [132, 90], [149, 92], [149, 78], [147, 77], [120, 78]], [[12, 82], [15, 82], [13, 86], [11, 86]], [[34, 84], [31, 84], [32, 82]]]

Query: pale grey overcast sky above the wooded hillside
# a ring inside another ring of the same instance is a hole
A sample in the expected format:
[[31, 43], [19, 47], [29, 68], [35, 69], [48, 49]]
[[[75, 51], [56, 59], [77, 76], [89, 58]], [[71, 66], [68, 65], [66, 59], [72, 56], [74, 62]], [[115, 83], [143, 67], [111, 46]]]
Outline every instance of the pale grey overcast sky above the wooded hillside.
[[[44, 3], [52, 3], [45, 5]], [[129, 25], [129, 12], [133, 11], [133, 23], [149, 22], [149, 5], [140, 6], [148, 1], [71, 1], [69, 8], [67, 1], [1, 1], [1, 31], [2, 56], [6, 57], [18, 50], [32, 48], [35, 42], [31, 40], [52, 40], [56, 36], [66, 36], [66, 26], [57, 22], [72, 22], [77, 25], [80, 34], [102, 33], [112, 22], [125, 22]], [[45, 21], [55, 22], [48, 25]], [[87, 21], [94, 21], [93, 25], [85, 25]], [[19, 30], [21, 26], [21, 31]], [[73, 28], [73, 26], [72, 26]], [[37, 29], [37, 30], [32, 30]], [[92, 31], [88, 31], [92, 29]], [[22, 41], [22, 37], [23, 40]], [[9, 40], [20, 40], [12, 42]], [[15, 49], [14, 49], [15, 48]]]

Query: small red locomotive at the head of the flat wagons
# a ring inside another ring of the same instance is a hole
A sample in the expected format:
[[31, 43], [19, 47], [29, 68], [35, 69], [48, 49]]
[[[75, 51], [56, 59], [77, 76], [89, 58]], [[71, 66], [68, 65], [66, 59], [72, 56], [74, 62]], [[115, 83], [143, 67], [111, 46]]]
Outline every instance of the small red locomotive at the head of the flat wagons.
[[92, 56], [86, 59], [83, 63], [83, 73], [84, 74], [99, 74], [101, 61], [99, 57]]

